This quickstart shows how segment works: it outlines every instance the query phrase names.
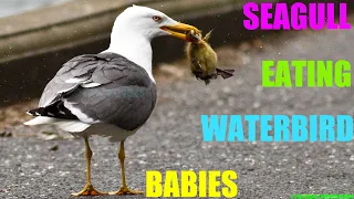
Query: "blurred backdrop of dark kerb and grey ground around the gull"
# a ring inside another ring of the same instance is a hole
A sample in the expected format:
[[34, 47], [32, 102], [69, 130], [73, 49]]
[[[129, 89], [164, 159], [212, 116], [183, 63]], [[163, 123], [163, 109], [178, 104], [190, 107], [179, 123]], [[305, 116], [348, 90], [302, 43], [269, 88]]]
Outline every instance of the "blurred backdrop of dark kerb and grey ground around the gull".
[[[147, 124], [126, 144], [132, 188], [144, 189], [145, 170], [150, 169], [233, 169], [239, 198], [352, 193], [352, 143], [202, 143], [201, 114], [354, 114], [352, 88], [261, 86], [262, 60], [354, 63], [353, 29], [247, 31], [246, 2], [1, 0], [0, 198], [62, 198], [82, 188], [83, 142], [53, 127], [29, 128], [22, 123], [65, 61], [107, 48], [114, 19], [132, 3], [158, 9], [205, 32], [215, 29], [210, 43], [219, 67], [236, 70], [232, 78], [206, 86], [190, 74], [184, 42], [153, 42], [158, 102]], [[354, 3], [347, 3], [354, 24]], [[116, 146], [101, 138], [92, 143], [93, 181], [98, 189], [113, 190], [119, 185]]]

